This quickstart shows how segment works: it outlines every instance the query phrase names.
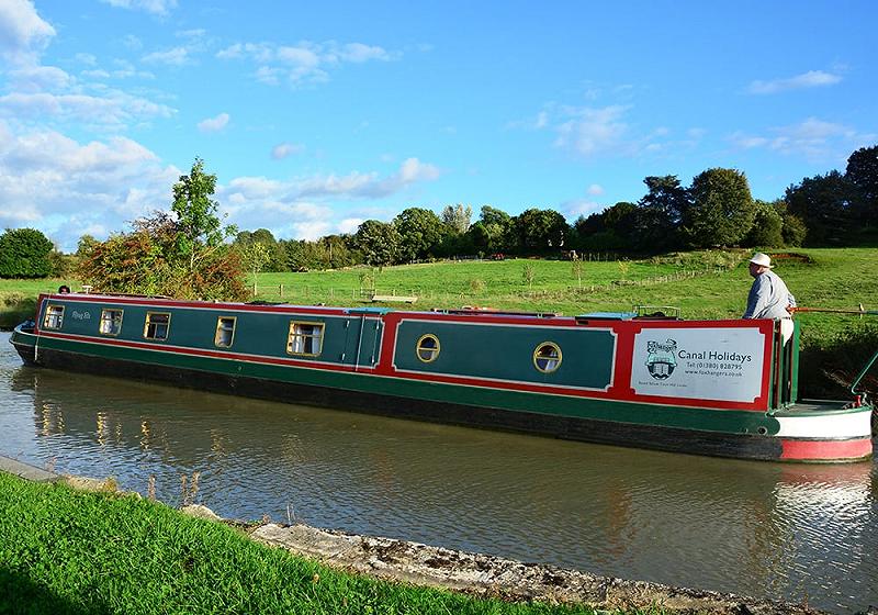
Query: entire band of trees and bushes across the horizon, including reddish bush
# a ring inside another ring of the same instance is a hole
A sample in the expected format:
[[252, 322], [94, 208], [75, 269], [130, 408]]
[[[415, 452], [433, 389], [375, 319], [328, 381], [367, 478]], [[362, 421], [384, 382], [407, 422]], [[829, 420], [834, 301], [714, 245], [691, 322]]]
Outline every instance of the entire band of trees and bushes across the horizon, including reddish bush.
[[[104, 242], [83, 236], [61, 255], [40, 231], [0, 235], [0, 277], [76, 273], [104, 292], [241, 298], [244, 272], [301, 271], [352, 265], [387, 266], [454, 256], [560, 257], [573, 251], [648, 255], [721, 246], [763, 248], [854, 245], [878, 228], [878, 146], [847, 159], [844, 172], [804, 178], [772, 202], [753, 199], [746, 176], [712, 168], [690, 186], [677, 176], [643, 180], [646, 193], [573, 224], [551, 209], [518, 215], [469, 205], [403, 210], [391, 222], [367, 220], [353, 234], [317, 241], [277, 239], [266, 228], [224, 225], [213, 200], [216, 176], [195, 159], [173, 186], [170, 212], [156, 211]], [[74, 269], [74, 270], [71, 270]]]

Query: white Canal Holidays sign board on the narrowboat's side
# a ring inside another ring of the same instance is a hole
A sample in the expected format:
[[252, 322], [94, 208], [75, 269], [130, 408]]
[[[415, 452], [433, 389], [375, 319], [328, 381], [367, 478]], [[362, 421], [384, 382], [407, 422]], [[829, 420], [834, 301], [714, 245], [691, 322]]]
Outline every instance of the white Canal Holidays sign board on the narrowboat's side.
[[640, 395], [753, 403], [764, 351], [757, 328], [643, 329], [634, 335], [631, 388]]

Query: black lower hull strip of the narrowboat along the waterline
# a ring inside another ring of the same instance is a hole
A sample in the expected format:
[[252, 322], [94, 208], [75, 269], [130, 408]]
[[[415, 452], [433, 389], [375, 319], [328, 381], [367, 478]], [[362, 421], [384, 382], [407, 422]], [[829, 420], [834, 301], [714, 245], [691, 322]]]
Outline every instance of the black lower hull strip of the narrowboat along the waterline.
[[[30, 361], [26, 346], [16, 344], [15, 348], [25, 362], [34, 362], [33, 347], [30, 347]], [[738, 459], [778, 460], [781, 455], [780, 441], [770, 436], [720, 434], [505, 411], [344, 389], [290, 384], [157, 365], [149, 365], [148, 370], [145, 370], [144, 364], [42, 348], [40, 349], [38, 365], [66, 371], [88, 372], [143, 382], [161, 382], [213, 393], [350, 410], [397, 418], [519, 432], [595, 444]]]

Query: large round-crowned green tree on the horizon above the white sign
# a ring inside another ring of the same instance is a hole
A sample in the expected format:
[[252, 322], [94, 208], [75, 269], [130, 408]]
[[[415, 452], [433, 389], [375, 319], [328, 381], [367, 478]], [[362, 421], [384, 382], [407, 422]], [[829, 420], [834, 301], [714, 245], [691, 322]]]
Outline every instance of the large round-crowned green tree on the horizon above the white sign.
[[687, 243], [696, 248], [740, 245], [753, 226], [754, 205], [746, 176], [736, 169], [708, 169], [693, 179], [684, 213]]

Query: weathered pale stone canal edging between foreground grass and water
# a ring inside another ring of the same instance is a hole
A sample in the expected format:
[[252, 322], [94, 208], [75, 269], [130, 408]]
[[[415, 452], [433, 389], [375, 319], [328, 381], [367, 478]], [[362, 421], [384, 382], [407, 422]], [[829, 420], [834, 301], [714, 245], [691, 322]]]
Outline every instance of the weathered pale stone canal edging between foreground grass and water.
[[[57, 474], [2, 456], [0, 471], [36, 482], [63, 482], [87, 491], [115, 490], [113, 481]], [[240, 522], [224, 519], [199, 504], [185, 506], [181, 512], [236, 528], [243, 526]], [[598, 577], [553, 566], [525, 563], [393, 538], [346, 534], [302, 524], [267, 523], [247, 532], [258, 543], [286, 549], [345, 572], [460, 591], [480, 597], [579, 603], [599, 611], [661, 608], [680, 615], [822, 613], [804, 604]]]

